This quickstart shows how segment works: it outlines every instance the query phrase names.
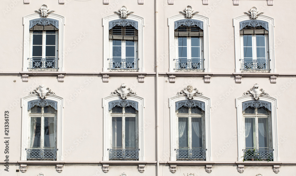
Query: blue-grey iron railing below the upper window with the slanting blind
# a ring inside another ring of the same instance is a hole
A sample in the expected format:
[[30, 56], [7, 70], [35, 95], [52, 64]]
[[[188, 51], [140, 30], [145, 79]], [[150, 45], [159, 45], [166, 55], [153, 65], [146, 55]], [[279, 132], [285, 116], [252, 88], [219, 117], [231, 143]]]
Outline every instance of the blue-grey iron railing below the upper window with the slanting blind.
[[131, 69], [138, 70], [138, 60], [139, 59], [108, 59], [110, 60], [110, 69], [111, 70], [120, 70], [120, 69]]

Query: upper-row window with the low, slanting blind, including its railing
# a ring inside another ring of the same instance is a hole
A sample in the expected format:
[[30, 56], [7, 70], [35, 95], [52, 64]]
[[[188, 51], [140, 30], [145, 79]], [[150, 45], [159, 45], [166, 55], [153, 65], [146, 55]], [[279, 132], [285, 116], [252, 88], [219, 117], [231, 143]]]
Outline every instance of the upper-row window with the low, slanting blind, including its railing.
[[138, 30], [115, 25], [109, 30], [110, 69], [138, 70]]

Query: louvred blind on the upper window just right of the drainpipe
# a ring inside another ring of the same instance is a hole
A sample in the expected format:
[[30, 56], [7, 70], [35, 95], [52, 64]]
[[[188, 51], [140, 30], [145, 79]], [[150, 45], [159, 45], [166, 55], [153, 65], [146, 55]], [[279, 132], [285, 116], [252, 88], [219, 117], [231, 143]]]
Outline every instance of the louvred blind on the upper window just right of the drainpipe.
[[177, 29], [175, 29], [175, 36], [201, 37], [201, 36], [203, 36], [203, 30], [197, 26], [191, 26], [191, 27], [180, 26]]

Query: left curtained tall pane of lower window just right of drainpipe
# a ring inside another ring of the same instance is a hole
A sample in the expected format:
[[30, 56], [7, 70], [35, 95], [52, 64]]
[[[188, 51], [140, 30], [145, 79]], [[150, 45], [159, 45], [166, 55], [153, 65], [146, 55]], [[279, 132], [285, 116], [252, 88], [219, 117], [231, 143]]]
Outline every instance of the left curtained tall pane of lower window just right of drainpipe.
[[188, 148], [188, 118], [179, 117], [179, 148]]

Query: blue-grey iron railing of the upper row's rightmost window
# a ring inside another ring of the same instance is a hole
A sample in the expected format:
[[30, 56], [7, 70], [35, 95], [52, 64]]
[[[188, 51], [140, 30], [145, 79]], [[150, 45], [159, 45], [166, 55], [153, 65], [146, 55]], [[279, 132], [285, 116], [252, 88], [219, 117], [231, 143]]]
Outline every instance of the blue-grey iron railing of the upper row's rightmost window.
[[252, 59], [241, 59], [242, 69], [241, 70], [269, 70], [270, 60], [252, 60]]

